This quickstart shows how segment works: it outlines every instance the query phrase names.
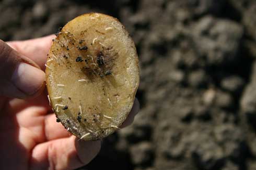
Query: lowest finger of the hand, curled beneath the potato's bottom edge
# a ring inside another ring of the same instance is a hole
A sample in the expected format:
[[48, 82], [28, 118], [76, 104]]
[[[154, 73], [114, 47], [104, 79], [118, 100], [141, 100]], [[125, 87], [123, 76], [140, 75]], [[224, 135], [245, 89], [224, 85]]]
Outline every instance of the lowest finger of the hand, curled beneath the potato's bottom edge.
[[100, 141], [78, 141], [76, 137], [41, 143], [31, 154], [31, 169], [75, 169], [88, 164], [100, 151]]

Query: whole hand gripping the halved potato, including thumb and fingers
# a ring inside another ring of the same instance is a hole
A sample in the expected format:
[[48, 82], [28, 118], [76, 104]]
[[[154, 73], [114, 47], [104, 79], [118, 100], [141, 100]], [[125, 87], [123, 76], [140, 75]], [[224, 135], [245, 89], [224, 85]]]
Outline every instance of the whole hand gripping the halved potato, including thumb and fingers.
[[[88, 164], [101, 141], [83, 141], [56, 122], [45, 90], [44, 63], [54, 35], [0, 40], [0, 169], [75, 169]], [[130, 125], [133, 109], [122, 127]]]

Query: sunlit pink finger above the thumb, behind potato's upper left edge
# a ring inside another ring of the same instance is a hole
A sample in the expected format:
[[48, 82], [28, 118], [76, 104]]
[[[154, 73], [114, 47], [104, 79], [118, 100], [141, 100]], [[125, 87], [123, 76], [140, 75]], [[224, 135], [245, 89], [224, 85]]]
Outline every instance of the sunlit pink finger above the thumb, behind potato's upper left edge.
[[7, 44], [16, 49], [20, 54], [25, 55], [36, 62], [38, 66], [44, 70], [46, 56], [49, 53], [53, 38], [55, 38], [55, 35], [49, 35], [26, 41], [7, 42]]

